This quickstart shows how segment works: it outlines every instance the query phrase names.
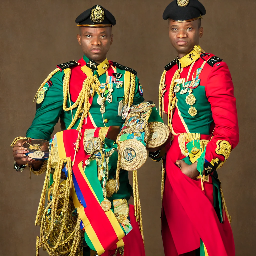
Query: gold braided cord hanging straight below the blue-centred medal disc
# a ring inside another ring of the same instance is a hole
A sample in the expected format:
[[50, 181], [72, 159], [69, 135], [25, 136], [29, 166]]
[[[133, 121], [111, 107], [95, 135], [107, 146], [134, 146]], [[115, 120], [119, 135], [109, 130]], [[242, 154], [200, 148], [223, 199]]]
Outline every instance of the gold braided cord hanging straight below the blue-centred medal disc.
[[136, 221], [139, 222], [141, 236], [144, 243], [144, 233], [143, 233], [142, 215], [141, 215], [141, 202], [140, 202], [140, 196], [139, 196], [139, 190], [138, 190], [137, 170], [134, 170], [132, 174], [133, 174], [134, 215], [136, 216]]

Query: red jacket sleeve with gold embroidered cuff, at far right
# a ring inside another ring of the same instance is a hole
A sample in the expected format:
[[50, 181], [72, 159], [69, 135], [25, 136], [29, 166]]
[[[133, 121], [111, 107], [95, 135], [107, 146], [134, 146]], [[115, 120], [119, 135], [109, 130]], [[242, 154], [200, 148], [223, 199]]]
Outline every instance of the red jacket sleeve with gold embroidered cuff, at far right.
[[204, 170], [207, 175], [224, 164], [239, 141], [234, 86], [225, 62], [214, 65], [205, 90], [215, 123], [213, 136], [205, 151]]

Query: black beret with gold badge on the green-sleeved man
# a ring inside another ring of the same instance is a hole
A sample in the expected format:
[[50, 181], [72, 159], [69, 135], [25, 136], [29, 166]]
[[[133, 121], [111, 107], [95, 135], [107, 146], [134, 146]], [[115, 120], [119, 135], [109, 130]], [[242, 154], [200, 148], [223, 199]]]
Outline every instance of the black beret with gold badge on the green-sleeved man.
[[116, 24], [115, 17], [101, 5], [94, 5], [76, 18], [77, 26], [109, 27]]

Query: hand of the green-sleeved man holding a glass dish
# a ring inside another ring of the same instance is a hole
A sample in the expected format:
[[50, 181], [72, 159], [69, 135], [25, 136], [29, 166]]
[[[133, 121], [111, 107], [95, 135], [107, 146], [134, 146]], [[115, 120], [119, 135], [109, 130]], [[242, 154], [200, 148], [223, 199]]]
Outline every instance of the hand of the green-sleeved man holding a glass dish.
[[35, 170], [40, 169], [42, 161], [35, 161], [33, 158], [27, 157], [25, 154], [29, 151], [24, 148], [21, 143], [18, 143], [13, 147], [13, 158], [17, 165], [33, 165]]

